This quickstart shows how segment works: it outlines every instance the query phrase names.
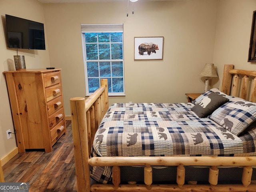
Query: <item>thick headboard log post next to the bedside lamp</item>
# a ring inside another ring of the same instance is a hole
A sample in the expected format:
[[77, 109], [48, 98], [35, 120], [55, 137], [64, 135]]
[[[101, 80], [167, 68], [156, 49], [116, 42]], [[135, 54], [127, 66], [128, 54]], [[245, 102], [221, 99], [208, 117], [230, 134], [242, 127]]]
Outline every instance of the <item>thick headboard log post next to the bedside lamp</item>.
[[234, 65], [224, 65], [221, 91], [228, 95], [230, 95], [230, 90], [231, 90], [230, 85], [232, 81], [232, 74], [229, 73], [229, 70], [233, 68], [234, 68]]

